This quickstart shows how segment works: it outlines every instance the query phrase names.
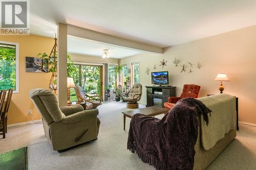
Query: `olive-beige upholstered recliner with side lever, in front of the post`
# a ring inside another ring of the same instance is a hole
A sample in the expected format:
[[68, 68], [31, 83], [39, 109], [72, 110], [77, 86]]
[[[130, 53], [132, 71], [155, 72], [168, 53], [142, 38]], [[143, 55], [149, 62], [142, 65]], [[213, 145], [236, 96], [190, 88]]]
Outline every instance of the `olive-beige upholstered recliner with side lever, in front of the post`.
[[56, 95], [46, 89], [33, 89], [29, 96], [40, 112], [45, 135], [53, 150], [67, 151], [75, 145], [97, 139], [98, 110], [83, 110], [81, 105], [59, 107]]

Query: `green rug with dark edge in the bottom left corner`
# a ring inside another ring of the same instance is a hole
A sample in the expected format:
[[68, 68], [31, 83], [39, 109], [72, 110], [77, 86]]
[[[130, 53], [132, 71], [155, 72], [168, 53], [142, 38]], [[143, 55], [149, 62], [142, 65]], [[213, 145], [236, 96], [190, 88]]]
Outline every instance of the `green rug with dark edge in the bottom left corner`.
[[0, 154], [0, 169], [27, 170], [28, 169], [28, 147], [20, 148], [11, 152]]

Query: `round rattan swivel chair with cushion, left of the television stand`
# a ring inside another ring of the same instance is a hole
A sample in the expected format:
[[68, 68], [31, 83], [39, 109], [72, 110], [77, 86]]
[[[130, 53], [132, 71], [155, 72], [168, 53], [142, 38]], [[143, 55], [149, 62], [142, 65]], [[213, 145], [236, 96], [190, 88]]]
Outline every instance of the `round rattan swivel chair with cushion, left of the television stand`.
[[[127, 93], [122, 93], [121, 97], [127, 102], [126, 107], [130, 109], [138, 108], [138, 101], [142, 95], [142, 85], [135, 83]], [[128, 97], [127, 97], [128, 96]]]

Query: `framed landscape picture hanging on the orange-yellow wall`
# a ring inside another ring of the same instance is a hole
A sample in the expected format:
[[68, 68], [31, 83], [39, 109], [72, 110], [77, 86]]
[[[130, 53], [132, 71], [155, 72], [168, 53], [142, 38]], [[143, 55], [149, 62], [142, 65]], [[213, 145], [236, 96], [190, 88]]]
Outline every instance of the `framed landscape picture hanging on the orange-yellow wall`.
[[26, 57], [26, 72], [48, 72], [49, 60]]

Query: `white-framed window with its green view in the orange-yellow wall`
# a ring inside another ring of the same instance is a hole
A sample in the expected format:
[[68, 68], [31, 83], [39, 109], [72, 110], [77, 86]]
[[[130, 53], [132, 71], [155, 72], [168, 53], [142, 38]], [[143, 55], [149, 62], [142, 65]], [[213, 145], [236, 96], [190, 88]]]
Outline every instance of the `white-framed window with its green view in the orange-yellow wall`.
[[0, 41], [0, 90], [18, 88], [18, 43]]

